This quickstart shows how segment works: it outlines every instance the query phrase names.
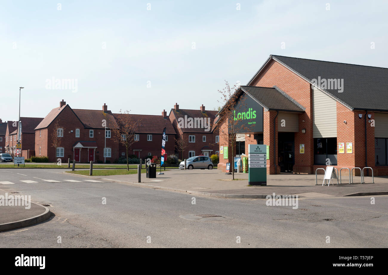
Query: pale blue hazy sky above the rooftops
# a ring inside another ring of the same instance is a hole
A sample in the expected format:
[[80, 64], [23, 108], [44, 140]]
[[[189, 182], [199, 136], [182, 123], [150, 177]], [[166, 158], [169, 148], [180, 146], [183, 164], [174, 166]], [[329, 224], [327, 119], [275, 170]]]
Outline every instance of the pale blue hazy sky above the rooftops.
[[[0, 118], [17, 120], [20, 86], [22, 117], [45, 117], [62, 99], [159, 115], [175, 102], [220, 106], [224, 80], [245, 85], [270, 54], [388, 67], [387, 10], [388, 1], [3, 1]], [[52, 77], [77, 79], [78, 92], [46, 89]]]

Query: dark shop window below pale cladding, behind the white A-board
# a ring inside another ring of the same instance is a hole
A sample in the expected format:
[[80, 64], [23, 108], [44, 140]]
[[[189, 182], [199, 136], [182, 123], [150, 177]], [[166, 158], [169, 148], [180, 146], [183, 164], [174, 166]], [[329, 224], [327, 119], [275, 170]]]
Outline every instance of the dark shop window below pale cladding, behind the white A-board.
[[314, 139], [314, 164], [337, 165], [337, 138], [315, 138]]

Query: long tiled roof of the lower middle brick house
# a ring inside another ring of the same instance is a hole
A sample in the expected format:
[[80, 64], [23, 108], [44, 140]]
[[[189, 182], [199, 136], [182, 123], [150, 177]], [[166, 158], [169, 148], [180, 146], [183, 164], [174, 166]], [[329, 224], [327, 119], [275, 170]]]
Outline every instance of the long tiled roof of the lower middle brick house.
[[113, 114], [120, 122], [125, 116], [130, 117], [130, 121], [136, 123], [136, 133], [163, 134], [166, 127], [166, 134], [177, 134], [168, 117], [162, 115], [135, 115], [135, 114]]

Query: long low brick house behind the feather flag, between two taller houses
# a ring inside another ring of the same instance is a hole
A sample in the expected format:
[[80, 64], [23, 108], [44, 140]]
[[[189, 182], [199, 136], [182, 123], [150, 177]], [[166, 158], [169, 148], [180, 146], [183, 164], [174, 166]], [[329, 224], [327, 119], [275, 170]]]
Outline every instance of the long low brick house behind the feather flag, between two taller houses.
[[[166, 155], [175, 153], [175, 136], [176, 132], [170, 122], [167, 112], [163, 110], [162, 115], [135, 115], [119, 114], [113, 116], [119, 123], [123, 116], [129, 116], [130, 121], [136, 123], [135, 143], [128, 149], [129, 155], [136, 155], [143, 160], [152, 158], [156, 155], [161, 157], [161, 148], [163, 140], [163, 129], [166, 127]], [[126, 148], [121, 143], [119, 145], [120, 157], [125, 157]]]

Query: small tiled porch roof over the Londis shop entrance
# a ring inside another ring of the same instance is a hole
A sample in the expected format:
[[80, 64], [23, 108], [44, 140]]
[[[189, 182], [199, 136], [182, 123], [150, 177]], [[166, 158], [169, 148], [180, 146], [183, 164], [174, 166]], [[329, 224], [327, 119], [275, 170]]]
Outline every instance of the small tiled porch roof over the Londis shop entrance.
[[240, 86], [240, 89], [267, 110], [298, 113], [305, 111], [305, 108], [277, 87]]

